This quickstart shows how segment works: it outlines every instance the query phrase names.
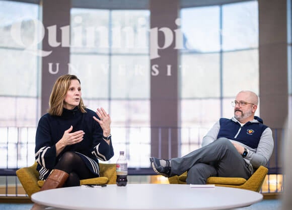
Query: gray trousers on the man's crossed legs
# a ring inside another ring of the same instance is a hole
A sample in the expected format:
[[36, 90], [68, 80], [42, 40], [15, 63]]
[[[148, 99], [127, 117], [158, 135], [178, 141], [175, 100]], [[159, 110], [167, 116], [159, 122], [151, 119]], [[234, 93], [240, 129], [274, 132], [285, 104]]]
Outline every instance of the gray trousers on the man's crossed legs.
[[187, 184], [205, 184], [210, 176], [248, 179], [252, 174], [249, 165], [227, 138], [218, 138], [205, 147], [170, 161], [170, 176], [188, 171]]

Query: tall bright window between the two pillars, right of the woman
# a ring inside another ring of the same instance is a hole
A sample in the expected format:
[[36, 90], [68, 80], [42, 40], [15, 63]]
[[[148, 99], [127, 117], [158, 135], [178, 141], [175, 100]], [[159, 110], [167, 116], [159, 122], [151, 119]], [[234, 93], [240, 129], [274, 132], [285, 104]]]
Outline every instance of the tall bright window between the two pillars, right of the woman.
[[[70, 74], [88, 108], [112, 118], [116, 160], [148, 167], [150, 157], [149, 11], [71, 9]], [[129, 156], [129, 154], [131, 154]]]

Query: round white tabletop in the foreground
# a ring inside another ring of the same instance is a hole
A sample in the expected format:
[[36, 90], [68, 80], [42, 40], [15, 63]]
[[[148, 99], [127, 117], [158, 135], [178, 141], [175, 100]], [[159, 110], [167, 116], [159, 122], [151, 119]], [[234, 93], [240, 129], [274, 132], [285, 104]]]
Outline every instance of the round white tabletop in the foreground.
[[101, 188], [65, 187], [34, 193], [32, 201], [56, 208], [78, 210], [195, 210], [231, 209], [262, 200], [250, 190], [187, 184], [128, 184]]

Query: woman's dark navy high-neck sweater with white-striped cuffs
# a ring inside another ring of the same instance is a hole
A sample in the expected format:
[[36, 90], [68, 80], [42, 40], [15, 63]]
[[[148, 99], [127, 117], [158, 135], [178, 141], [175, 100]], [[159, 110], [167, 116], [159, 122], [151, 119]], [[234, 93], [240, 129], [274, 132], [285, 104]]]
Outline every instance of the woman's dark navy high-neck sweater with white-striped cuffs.
[[[93, 159], [107, 161], [114, 155], [112, 143], [108, 145], [102, 138], [103, 130], [93, 116], [97, 114], [86, 109], [82, 113], [78, 107], [73, 110], [63, 108], [62, 116], [43, 115], [38, 123], [35, 142], [35, 158], [38, 163], [37, 170], [40, 178], [46, 179], [50, 171], [54, 168], [59, 157], [66, 151], [77, 152]], [[85, 132], [83, 141], [78, 144], [66, 146], [56, 157], [56, 143], [62, 138], [64, 131], [73, 126], [71, 132], [83, 130]], [[83, 158], [87, 162], [87, 158]], [[90, 168], [90, 163], [87, 163]], [[91, 169], [91, 168], [90, 168]], [[91, 169], [91, 171], [93, 171]]]

